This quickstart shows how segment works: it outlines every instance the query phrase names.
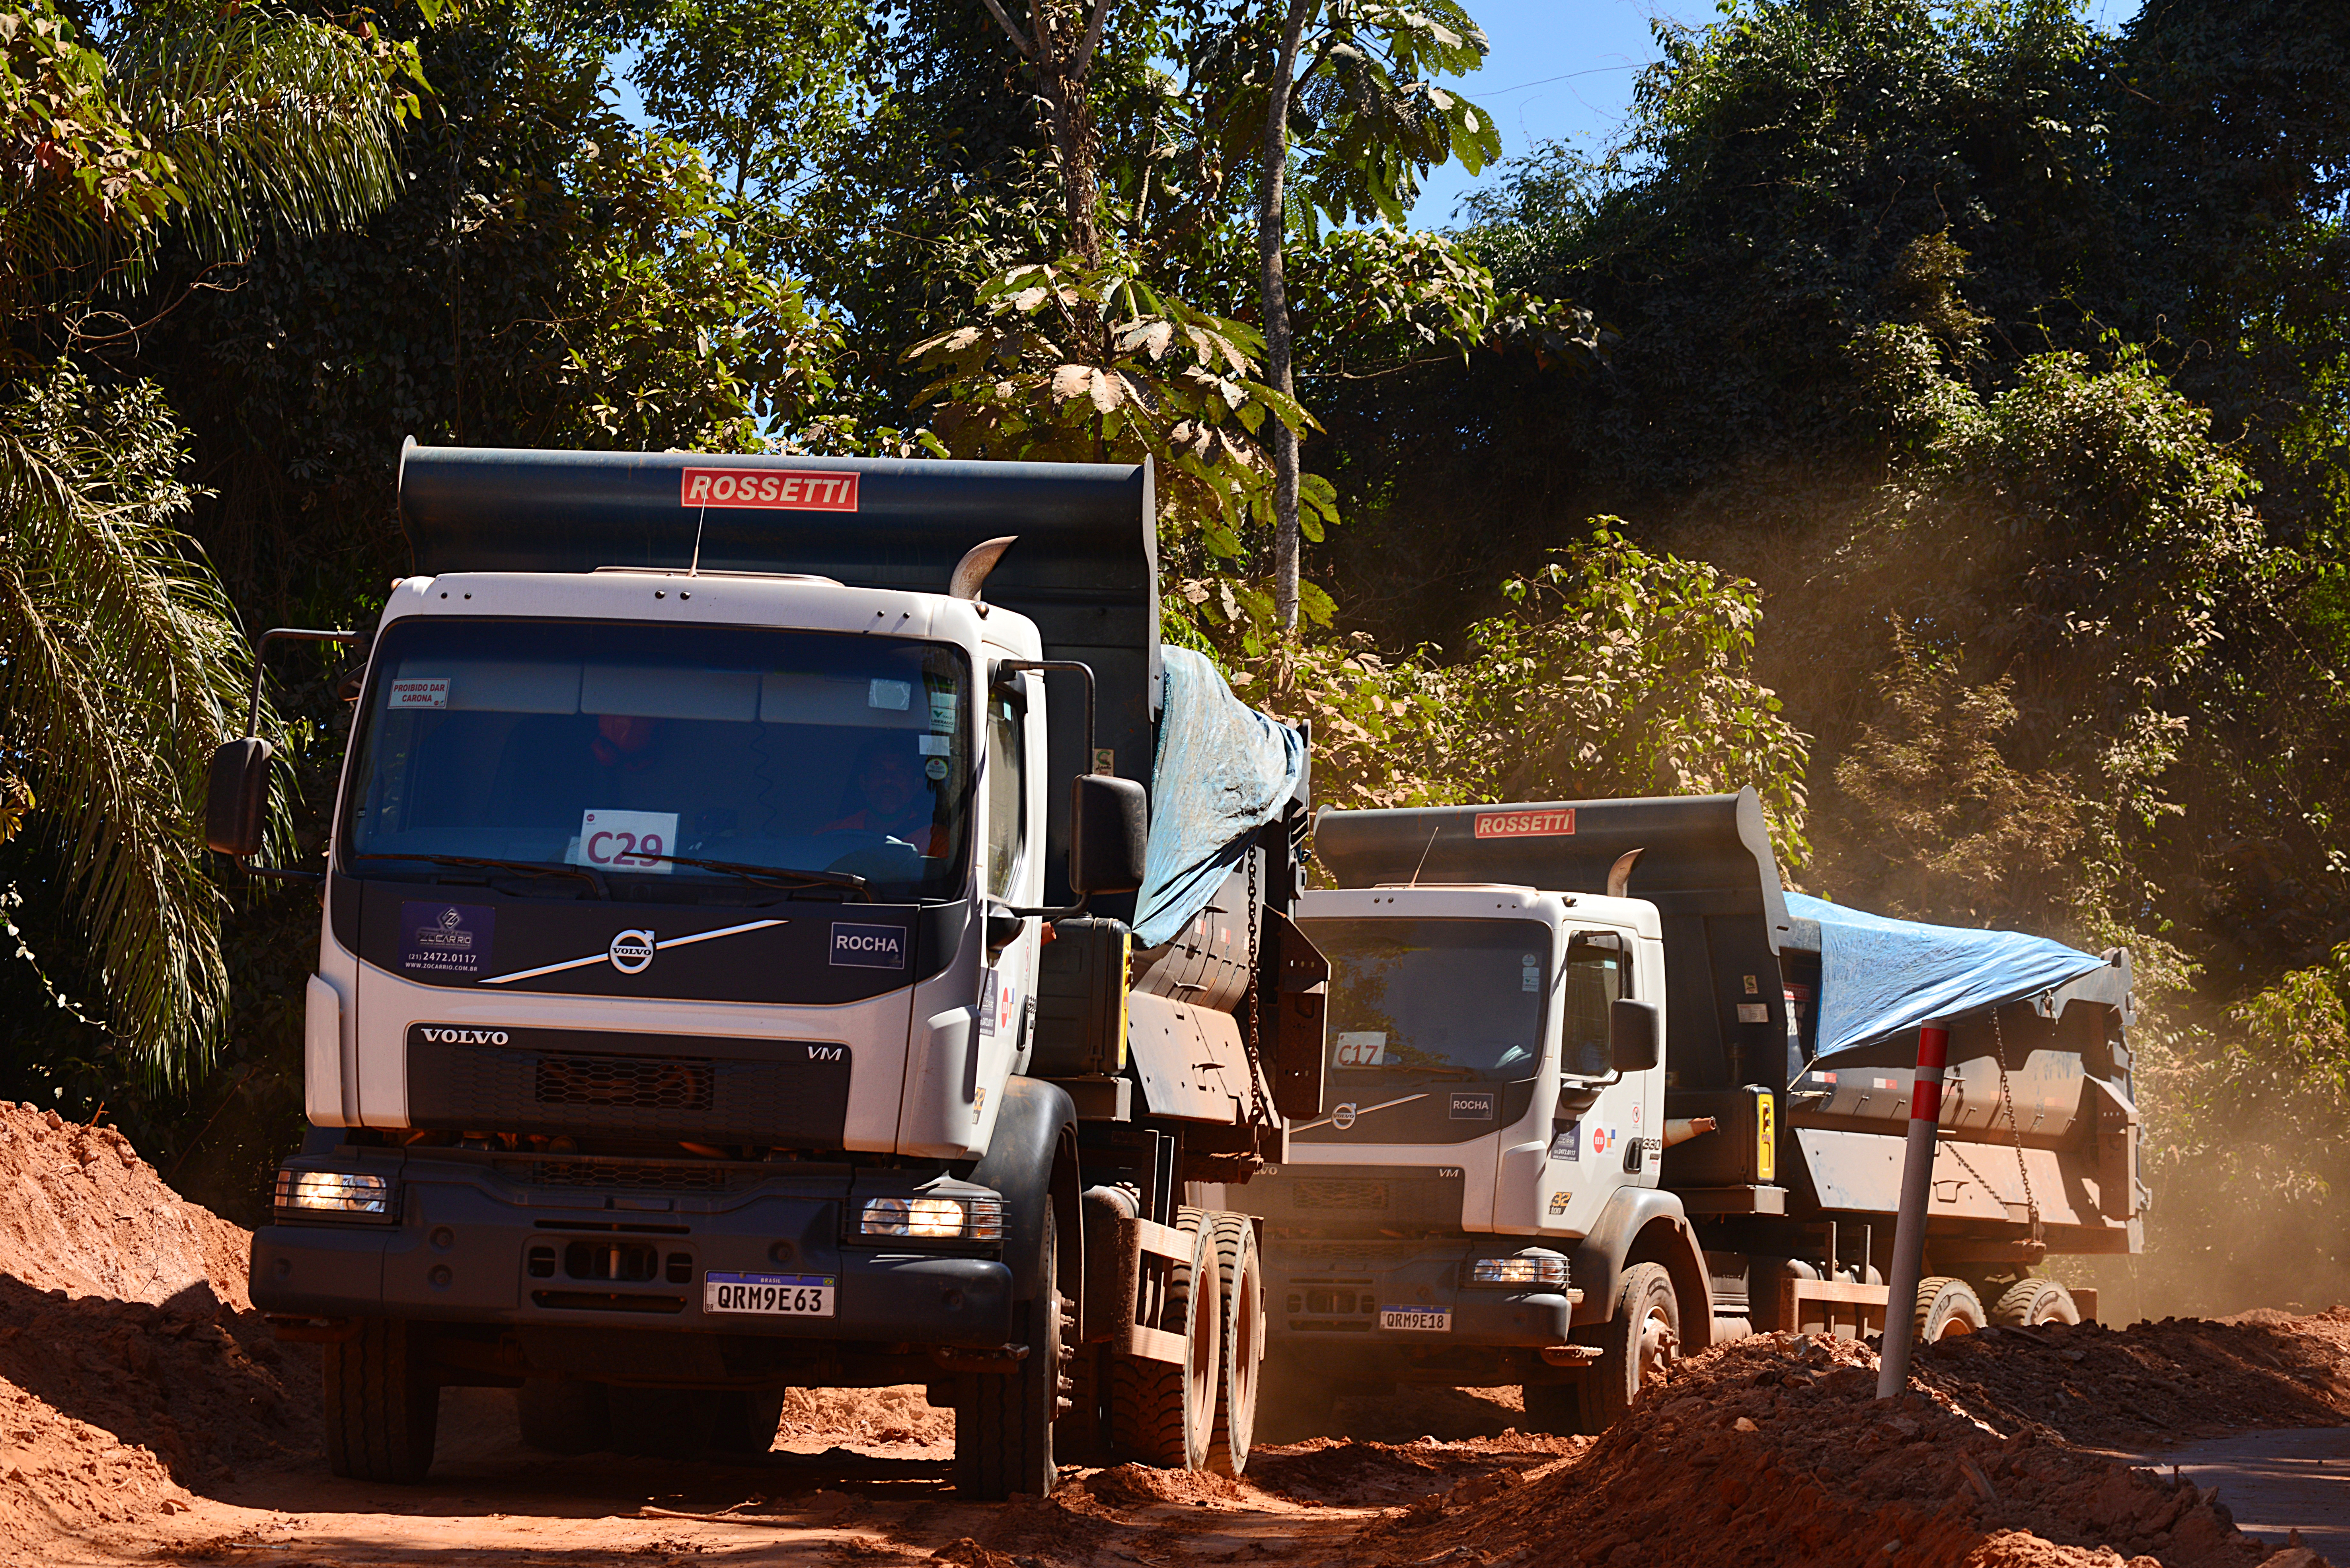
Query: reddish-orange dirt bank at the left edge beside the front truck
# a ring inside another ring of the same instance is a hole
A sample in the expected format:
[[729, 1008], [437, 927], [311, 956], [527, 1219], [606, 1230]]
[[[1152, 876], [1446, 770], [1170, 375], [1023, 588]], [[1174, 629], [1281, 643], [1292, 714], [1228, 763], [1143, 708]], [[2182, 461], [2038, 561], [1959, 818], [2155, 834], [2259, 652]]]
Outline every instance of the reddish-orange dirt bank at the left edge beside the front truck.
[[0, 1537], [317, 1453], [317, 1352], [251, 1312], [244, 1248], [113, 1128], [0, 1107]]

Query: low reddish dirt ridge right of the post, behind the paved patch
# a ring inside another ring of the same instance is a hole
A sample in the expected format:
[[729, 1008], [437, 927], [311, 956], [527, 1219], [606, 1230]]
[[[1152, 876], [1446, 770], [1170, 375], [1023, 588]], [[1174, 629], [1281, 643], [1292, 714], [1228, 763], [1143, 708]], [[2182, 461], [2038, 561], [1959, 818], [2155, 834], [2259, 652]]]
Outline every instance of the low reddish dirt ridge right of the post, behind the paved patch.
[[2334, 1427], [2350, 1420], [2350, 1307], [2122, 1331], [1990, 1328], [1925, 1349], [1915, 1371], [2000, 1432], [2042, 1425], [2103, 1448], [2244, 1427]]

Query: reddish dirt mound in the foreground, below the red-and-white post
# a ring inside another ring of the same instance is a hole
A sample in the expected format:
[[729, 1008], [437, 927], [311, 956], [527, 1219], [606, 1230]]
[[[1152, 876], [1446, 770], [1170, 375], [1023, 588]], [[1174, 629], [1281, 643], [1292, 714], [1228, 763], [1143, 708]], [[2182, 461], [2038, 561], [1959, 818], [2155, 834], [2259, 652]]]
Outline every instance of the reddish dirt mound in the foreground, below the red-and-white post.
[[1697, 1356], [1584, 1460], [1429, 1497], [1361, 1544], [1382, 1563], [1473, 1544], [1525, 1568], [2235, 1568], [2265, 1556], [2193, 1481], [2082, 1453], [2037, 1425], [2002, 1436], [1946, 1399], [1878, 1406], [1866, 1347], [1795, 1335]]

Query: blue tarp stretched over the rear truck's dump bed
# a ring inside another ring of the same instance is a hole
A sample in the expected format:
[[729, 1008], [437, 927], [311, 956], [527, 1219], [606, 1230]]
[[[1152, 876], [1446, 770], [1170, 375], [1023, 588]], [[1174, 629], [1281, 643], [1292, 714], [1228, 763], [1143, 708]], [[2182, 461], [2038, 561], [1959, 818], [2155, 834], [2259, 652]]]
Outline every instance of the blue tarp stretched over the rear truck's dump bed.
[[1819, 1048], [1849, 1046], [2063, 985], [2106, 961], [2044, 936], [1925, 926], [1802, 893], [1786, 912], [1819, 922]]

